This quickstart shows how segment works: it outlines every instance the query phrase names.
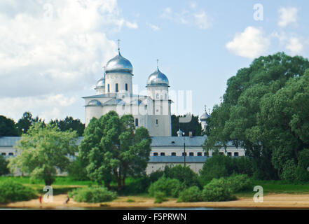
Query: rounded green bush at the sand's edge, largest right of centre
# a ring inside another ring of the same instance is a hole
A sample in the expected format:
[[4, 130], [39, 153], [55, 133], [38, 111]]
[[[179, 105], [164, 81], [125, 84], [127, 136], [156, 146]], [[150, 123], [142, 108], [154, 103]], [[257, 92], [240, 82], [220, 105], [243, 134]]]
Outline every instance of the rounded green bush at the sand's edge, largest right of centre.
[[202, 190], [202, 200], [205, 202], [226, 202], [235, 199], [228, 181], [224, 178], [212, 179]]

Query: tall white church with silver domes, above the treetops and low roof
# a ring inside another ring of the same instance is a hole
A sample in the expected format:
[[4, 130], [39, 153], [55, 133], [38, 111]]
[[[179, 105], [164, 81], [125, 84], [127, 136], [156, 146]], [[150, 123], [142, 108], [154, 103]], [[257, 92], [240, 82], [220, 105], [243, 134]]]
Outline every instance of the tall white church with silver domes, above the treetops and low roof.
[[100, 118], [109, 111], [119, 116], [132, 114], [136, 127], [146, 127], [151, 137], [172, 136], [169, 80], [158, 67], [146, 80], [147, 95], [133, 94], [133, 67], [121, 55], [104, 66], [104, 75], [97, 81], [96, 94], [85, 99], [85, 125], [91, 118]]

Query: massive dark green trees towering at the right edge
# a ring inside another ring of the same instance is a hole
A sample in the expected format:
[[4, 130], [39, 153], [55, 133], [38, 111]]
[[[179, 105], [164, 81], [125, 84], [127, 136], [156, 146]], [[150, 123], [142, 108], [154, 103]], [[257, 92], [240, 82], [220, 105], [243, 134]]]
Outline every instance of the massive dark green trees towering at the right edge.
[[299, 154], [309, 148], [308, 68], [308, 59], [277, 53], [240, 69], [207, 119], [205, 149], [233, 141], [253, 159], [254, 178], [296, 179]]

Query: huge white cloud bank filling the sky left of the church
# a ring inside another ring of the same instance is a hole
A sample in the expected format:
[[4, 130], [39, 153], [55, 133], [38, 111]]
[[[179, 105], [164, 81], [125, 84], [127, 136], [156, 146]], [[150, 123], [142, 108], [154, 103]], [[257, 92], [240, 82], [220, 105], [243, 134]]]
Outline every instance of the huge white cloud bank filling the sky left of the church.
[[117, 53], [107, 34], [124, 27], [138, 25], [123, 18], [117, 0], [1, 0], [0, 114], [50, 119], [69, 105], [82, 109], [67, 96], [82, 97], [102, 75]]

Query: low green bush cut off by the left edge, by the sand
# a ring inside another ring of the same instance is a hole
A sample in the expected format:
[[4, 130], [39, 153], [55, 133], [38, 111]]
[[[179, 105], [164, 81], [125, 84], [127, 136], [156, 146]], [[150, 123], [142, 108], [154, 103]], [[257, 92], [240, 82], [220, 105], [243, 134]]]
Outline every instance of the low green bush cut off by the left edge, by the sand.
[[0, 204], [32, 200], [36, 192], [29, 187], [23, 186], [11, 180], [0, 183]]

